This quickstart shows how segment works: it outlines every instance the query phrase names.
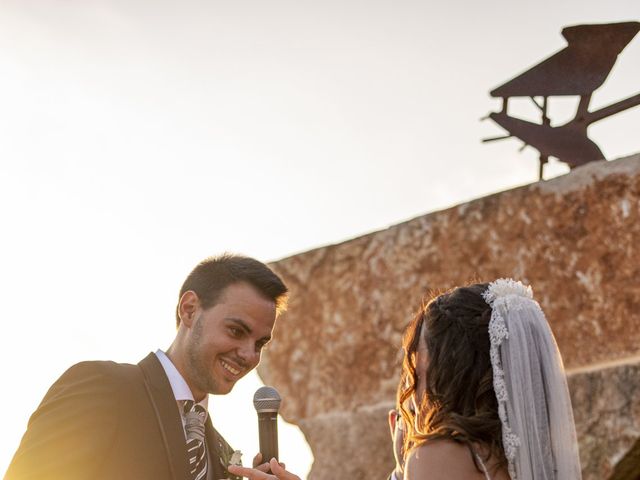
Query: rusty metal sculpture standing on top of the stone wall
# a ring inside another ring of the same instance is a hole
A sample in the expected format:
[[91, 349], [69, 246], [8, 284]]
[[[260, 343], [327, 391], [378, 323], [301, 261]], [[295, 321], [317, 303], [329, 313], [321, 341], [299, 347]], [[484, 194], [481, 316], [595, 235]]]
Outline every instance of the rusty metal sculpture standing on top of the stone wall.
[[[618, 54], [640, 31], [640, 22], [602, 25], [575, 25], [562, 30], [568, 46], [526, 72], [490, 92], [502, 98], [502, 110], [487, 118], [504, 128], [508, 135], [487, 138], [483, 142], [518, 137], [524, 146], [540, 152], [540, 179], [549, 157], [556, 157], [570, 168], [594, 160], [603, 160], [600, 148], [587, 136], [590, 124], [628, 108], [640, 105], [640, 93], [596, 111], [589, 111], [593, 91], [599, 88], [613, 68]], [[547, 116], [548, 97], [579, 95], [573, 119], [551, 126]], [[511, 117], [507, 113], [509, 98], [531, 97], [542, 114], [541, 123]], [[540, 104], [535, 97], [542, 97]], [[524, 148], [523, 146], [523, 148]]]

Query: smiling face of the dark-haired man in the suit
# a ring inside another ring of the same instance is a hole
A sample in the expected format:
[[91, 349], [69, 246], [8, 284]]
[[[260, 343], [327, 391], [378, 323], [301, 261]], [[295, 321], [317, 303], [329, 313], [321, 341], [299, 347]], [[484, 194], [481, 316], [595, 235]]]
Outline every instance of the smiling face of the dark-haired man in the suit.
[[216, 305], [196, 309], [184, 358], [185, 380], [196, 400], [229, 393], [258, 365], [275, 318], [275, 303], [247, 283], [229, 285]]

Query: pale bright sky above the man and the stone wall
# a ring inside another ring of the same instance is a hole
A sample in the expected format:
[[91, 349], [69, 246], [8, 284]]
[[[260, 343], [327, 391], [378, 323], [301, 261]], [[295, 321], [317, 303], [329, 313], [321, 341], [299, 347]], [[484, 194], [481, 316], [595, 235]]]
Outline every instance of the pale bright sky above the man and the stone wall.
[[[480, 143], [503, 133], [479, 121], [489, 90], [564, 26], [639, 17], [637, 0], [0, 1], [0, 473], [71, 364], [169, 345], [202, 258], [277, 260], [536, 181], [533, 149]], [[592, 109], [639, 91], [637, 37]], [[590, 135], [617, 158], [638, 125], [640, 107]], [[211, 409], [245, 463], [258, 386]], [[303, 443], [281, 425], [301, 475]]]

